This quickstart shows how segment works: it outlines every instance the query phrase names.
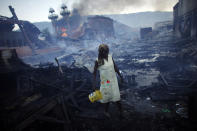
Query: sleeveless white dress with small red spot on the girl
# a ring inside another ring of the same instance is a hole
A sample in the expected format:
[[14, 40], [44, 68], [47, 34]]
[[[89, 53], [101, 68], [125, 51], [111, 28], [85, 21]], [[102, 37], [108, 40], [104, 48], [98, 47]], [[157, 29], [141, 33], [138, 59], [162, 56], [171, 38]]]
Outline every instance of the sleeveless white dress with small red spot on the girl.
[[99, 66], [98, 70], [100, 72], [100, 91], [103, 96], [100, 102], [119, 101], [120, 91], [111, 55], [108, 55], [108, 61], [104, 59], [104, 65]]

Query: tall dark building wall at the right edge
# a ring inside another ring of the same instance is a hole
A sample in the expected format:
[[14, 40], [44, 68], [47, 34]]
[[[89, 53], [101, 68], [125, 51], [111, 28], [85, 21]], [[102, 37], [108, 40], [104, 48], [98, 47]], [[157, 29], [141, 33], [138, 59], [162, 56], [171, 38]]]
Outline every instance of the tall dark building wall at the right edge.
[[177, 37], [197, 38], [197, 1], [179, 0], [174, 6], [174, 32]]

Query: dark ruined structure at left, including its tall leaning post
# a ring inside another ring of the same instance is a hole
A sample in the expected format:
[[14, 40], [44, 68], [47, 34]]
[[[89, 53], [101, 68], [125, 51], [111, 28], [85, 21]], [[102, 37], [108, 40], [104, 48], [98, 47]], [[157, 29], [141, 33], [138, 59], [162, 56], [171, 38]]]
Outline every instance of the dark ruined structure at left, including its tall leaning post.
[[[50, 53], [59, 50], [48, 41], [39, 39], [41, 31], [29, 21], [19, 20], [14, 8], [9, 6], [12, 17], [0, 16], [0, 50], [15, 49], [19, 57]], [[19, 29], [14, 30], [18, 25]]]

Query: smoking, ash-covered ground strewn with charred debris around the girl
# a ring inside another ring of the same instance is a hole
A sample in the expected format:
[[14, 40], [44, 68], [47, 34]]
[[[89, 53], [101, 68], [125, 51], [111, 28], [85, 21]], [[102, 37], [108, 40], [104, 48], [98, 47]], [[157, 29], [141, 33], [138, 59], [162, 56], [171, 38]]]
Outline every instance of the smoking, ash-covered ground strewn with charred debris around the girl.
[[[124, 77], [124, 83], [119, 83], [122, 119], [113, 103], [108, 118], [102, 104], [88, 100], [101, 41], [67, 40], [58, 42], [61, 51], [22, 59], [27, 69], [14, 74], [17, 95], [2, 102], [2, 129], [196, 129], [196, 41], [168, 34], [146, 40], [105, 39], [102, 43], [109, 45]], [[58, 72], [55, 58], [63, 74]]]

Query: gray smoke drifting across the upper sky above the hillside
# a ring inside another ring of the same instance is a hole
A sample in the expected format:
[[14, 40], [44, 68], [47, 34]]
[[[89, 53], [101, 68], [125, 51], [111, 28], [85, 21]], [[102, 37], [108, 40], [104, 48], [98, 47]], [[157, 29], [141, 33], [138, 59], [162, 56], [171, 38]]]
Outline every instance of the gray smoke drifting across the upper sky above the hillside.
[[73, 4], [73, 8], [79, 10], [82, 15], [91, 14], [118, 14], [128, 8], [140, 8], [147, 6], [156, 11], [164, 11], [173, 8], [178, 0], [79, 0]]

